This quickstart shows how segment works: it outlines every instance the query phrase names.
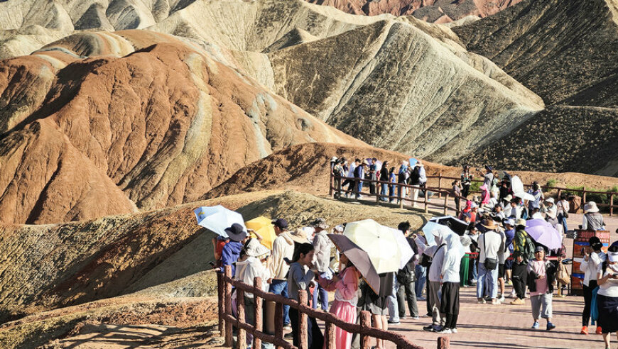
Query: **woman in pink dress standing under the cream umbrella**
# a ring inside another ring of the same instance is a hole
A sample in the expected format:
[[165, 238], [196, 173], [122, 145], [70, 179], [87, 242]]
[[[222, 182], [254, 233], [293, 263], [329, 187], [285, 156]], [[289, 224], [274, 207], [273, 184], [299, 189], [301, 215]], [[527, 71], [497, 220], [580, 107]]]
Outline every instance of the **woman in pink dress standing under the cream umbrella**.
[[[345, 254], [340, 257], [341, 265], [345, 265], [339, 275], [333, 275], [332, 279], [320, 276], [318, 283], [327, 291], [335, 291], [335, 301], [330, 306], [330, 312], [337, 318], [349, 323], [356, 323], [356, 304], [358, 302], [357, 289], [359, 271], [352, 265]], [[335, 327], [335, 343], [337, 349], [349, 349], [352, 344], [352, 333]], [[324, 343], [326, 348], [326, 343]]]

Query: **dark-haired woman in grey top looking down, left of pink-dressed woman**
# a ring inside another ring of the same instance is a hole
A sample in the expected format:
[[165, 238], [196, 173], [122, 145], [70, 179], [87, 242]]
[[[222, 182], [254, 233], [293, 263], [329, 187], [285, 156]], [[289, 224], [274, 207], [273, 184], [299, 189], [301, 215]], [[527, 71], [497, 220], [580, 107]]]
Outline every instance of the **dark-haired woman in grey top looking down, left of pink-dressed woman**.
[[[290, 299], [299, 301], [298, 291], [303, 289], [309, 292], [309, 287], [314, 284], [315, 272], [313, 269], [313, 245], [301, 243], [296, 249], [293, 262], [288, 273], [288, 286]], [[309, 304], [305, 304], [309, 305]], [[298, 323], [298, 310], [290, 308], [290, 320], [292, 323], [292, 343], [296, 347], [300, 346], [300, 323]], [[307, 317], [307, 343], [308, 348], [322, 349], [324, 336], [318, 327], [315, 318]]]

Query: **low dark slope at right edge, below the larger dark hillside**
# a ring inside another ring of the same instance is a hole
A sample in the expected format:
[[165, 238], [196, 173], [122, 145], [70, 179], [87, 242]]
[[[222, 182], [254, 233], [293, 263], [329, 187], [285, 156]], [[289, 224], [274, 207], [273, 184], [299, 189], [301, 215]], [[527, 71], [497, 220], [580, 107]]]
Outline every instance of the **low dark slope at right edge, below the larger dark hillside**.
[[461, 161], [618, 177], [617, 120], [618, 109], [550, 106], [509, 136]]

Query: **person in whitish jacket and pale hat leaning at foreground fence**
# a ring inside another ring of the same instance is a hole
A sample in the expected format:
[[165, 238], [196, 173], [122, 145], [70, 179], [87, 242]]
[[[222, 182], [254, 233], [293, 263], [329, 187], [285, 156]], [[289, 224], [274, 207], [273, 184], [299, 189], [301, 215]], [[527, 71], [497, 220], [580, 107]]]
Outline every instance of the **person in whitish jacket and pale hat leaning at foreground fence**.
[[[270, 250], [264, 245], [261, 245], [256, 238], [250, 238], [244, 245], [243, 253], [236, 262], [236, 276], [234, 279], [244, 282], [245, 284], [254, 285], [254, 279], [260, 277], [262, 284], [260, 288], [266, 292], [269, 289], [269, 284], [266, 282], [270, 278], [270, 271], [268, 267], [268, 260]], [[237, 299], [238, 301], [244, 301], [244, 322], [250, 325], [255, 325], [255, 299], [254, 294], [251, 292], [244, 293], [244, 299]], [[246, 345], [247, 348], [251, 348], [253, 342], [253, 335], [246, 333]], [[261, 348], [274, 348], [271, 343], [262, 342]]]

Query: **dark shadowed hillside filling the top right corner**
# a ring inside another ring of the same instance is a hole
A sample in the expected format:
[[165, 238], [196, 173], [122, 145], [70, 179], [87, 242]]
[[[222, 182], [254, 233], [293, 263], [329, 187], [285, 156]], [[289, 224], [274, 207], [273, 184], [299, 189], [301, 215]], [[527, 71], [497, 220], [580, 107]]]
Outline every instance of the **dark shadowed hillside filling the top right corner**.
[[618, 2], [523, 1], [453, 31], [547, 104], [618, 106]]

